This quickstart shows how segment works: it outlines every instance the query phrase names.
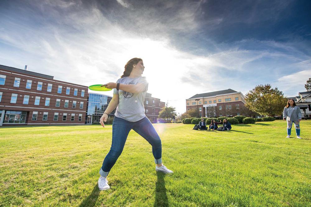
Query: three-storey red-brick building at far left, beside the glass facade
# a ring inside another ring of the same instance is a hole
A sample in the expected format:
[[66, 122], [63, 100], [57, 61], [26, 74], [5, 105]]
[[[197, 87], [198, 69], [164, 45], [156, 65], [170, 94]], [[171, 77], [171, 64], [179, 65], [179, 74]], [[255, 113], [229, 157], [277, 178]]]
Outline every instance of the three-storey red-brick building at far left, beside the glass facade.
[[84, 124], [88, 87], [0, 65], [0, 126]]

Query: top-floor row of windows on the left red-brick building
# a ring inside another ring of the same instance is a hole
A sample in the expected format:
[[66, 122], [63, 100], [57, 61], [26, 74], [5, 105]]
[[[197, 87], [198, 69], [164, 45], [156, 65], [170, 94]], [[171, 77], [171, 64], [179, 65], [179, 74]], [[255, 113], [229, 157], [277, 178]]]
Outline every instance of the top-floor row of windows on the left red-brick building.
[[[5, 75], [0, 75], [0, 85], [4, 85], [5, 84], [6, 77], [7, 76], [5, 76]], [[13, 86], [19, 88], [20, 83], [21, 83], [21, 78], [15, 78]], [[31, 89], [31, 85], [32, 85], [32, 80], [27, 80], [27, 82], [26, 82], [26, 89]], [[37, 90], [41, 91], [42, 90], [42, 85], [43, 85], [43, 82], [39, 82], [38, 81]], [[47, 92], [51, 92], [52, 91], [52, 86], [53, 86], [53, 84], [48, 83]], [[71, 89], [70, 87], [66, 88], [66, 95], [70, 95], [70, 89]], [[58, 85], [57, 93], [61, 94], [62, 90], [63, 90], [63, 86], [62, 85]], [[85, 90], [81, 90], [81, 97], [84, 97], [84, 93], [85, 93]], [[74, 96], [78, 95], [78, 89], [77, 88], [74, 89], [73, 95]]]

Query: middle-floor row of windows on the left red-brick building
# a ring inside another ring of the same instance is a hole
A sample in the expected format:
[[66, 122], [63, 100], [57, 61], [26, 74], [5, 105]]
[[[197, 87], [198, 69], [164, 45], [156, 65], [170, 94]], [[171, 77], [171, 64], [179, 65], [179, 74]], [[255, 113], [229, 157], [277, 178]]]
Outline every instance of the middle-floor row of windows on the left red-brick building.
[[[10, 101], [11, 104], [16, 104], [17, 96], [18, 96], [18, 94], [12, 94], [11, 95], [11, 101]], [[1, 98], [2, 98], [2, 92], [0, 92], [0, 102], [1, 102]], [[34, 105], [39, 106], [40, 99], [41, 99], [40, 96], [36, 96]], [[42, 98], [42, 99], [44, 99], [44, 98]], [[23, 104], [27, 105], [28, 103], [29, 103], [29, 95], [24, 95]], [[83, 109], [83, 104], [84, 104], [84, 102], [80, 101], [80, 109]], [[50, 98], [48, 98], [48, 97], [45, 98], [44, 106], [50, 106]], [[69, 106], [69, 100], [65, 100], [64, 108], [68, 108], [68, 106]], [[60, 107], [60, 99], [56, 99], [55, 107]], [[72, 101], [72, 108], [77, 108], [77, 101]]]

